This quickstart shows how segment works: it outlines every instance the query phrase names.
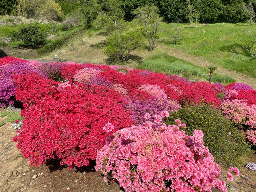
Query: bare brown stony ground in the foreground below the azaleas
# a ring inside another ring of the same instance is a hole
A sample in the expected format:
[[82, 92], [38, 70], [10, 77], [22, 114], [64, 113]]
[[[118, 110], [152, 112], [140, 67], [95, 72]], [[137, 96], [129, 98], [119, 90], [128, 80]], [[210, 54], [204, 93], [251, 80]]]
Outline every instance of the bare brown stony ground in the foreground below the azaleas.
[[[3, 109], [0, 109], [2, 112]], [[52, 161], [47, 165], [30, 167], [12, 138], [16, 132], [12, 123], [0, 127], [0, 192], [122, 192], [118, 184], [107, 184], [100, 172], [90, 168], [69, 170]], [[250, 162], [256, 163], [254, 154]], [[230, 192], [256, 192], [256, 172], [240, 169], [241, 176], [230, 182]], [[223, 174], [225, 175], [225, 174]]]

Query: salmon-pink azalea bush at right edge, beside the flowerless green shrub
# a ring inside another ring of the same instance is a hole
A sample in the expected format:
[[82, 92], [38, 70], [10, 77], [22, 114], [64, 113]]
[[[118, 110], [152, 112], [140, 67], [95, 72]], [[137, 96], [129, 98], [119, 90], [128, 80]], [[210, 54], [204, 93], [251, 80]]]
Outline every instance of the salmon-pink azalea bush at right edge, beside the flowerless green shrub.
[[223, 114], [236, 124], [256, 128], [256, 106], [248, 104], [245, 100], [225, 100], [220, 106]]

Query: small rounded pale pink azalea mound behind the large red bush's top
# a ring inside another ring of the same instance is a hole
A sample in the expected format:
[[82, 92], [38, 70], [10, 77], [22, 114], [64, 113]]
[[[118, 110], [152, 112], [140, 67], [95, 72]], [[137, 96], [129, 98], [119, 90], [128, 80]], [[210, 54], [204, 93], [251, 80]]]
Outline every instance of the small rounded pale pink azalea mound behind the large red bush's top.
[[84, 68], [79, 70], [74, 75], [74, 81], [80, 82], [80, 83], [87, 83], [92, 78], [96, 78], [98, 74], [100, 74], [101, 70], [94, 69], [94, 68]]

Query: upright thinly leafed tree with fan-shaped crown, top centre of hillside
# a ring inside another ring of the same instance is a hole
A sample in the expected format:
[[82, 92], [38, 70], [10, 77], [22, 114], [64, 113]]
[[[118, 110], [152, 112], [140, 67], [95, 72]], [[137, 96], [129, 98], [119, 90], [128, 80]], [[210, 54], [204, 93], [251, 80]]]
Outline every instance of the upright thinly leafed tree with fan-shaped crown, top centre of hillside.
[[144, 6], [137, 8], [133, 13], [136, 15], [135, 20], [146, 39], [148, 40], [149, 49], [152, 51], [155, 46], [158, 27], [162, 18], [158, 14], [159, 10], [156, 6]]

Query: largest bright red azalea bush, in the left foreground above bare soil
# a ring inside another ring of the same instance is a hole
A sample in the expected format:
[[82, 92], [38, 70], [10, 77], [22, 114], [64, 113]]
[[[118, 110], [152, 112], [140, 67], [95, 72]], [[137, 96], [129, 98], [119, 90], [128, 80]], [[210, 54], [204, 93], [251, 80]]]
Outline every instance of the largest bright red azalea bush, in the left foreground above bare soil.
[[[41, 92], [40, 85], [31, 83]], [[44, 96], [22, 110], [22, 130], [14, 138], [31, 165], [57, 159], [70, 168], [87, 166], [110, 134], [132, 125], [130, 114], [118, 103], [120, 96], [106, 87], [70, 84], [56, 89], [46, 84]], [[17, 98], [23, 98], [20, 94], [29, 93], [19, 89]]]

